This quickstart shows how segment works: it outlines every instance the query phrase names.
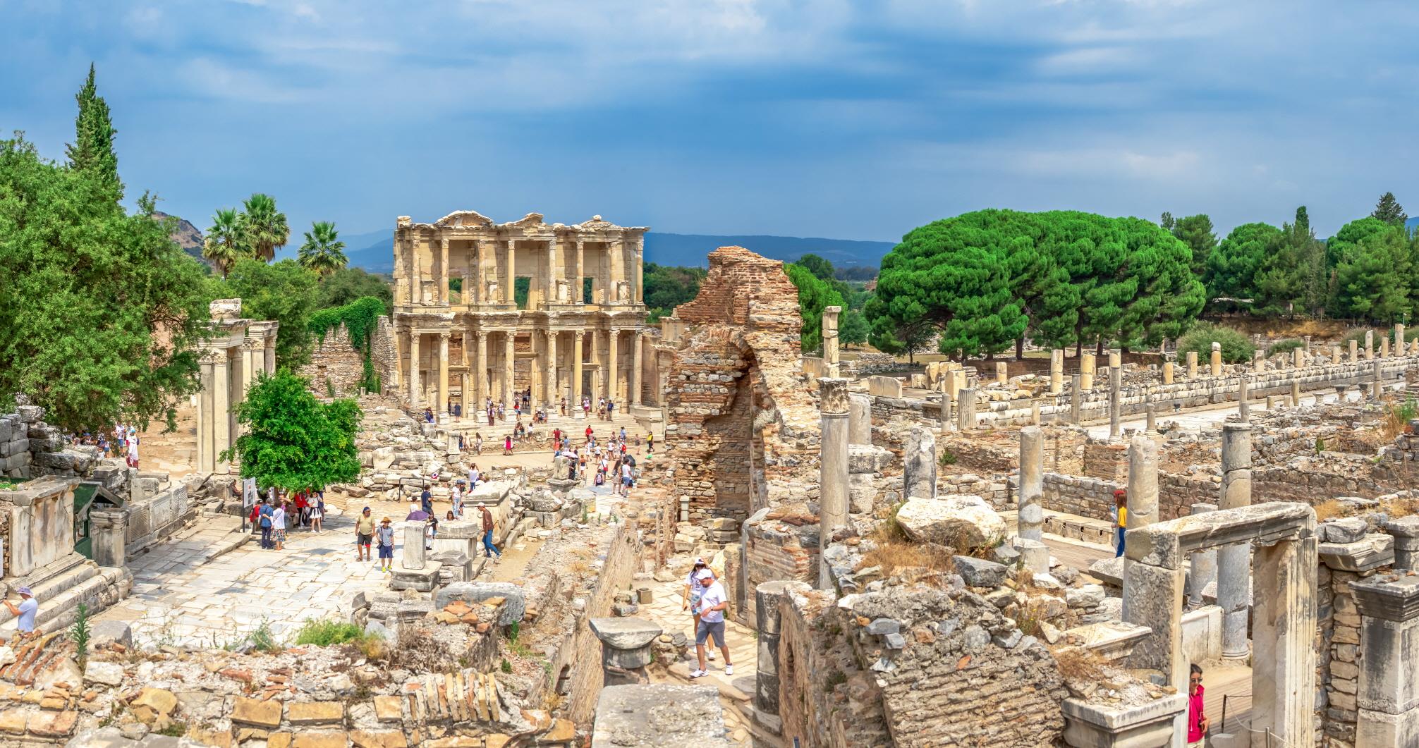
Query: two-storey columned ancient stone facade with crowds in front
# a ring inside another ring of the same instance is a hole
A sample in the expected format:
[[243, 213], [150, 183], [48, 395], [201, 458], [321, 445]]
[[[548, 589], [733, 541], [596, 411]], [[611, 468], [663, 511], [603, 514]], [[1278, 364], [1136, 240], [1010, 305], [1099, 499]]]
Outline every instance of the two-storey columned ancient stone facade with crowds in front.
[[[473, 210], [394, 227], [393, 363], [383, 386], [410, 407], [463, 412], [610, 396], [640, 403], [646, 382], [641, 254], [646, 227], [538, 213], [494, 223]], [[518, 307], [517, 280], [529, 277]], [[450, 281], [461, 281], [454, 291]], [[583, 294], [583, 287], [590, 287]], [[457, 395], [457, 397], [453, 397]]]

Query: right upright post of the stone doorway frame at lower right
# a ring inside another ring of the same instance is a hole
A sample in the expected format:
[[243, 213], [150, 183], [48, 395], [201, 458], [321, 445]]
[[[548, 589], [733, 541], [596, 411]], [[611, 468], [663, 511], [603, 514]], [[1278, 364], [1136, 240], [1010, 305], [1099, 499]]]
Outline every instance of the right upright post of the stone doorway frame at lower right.
[[[1271, 734], [1253, 732], [1253, 748], [1315, 744], [1317, 548], [1317, 538], [1310, 535], [1256, 549], [1253, 563], [1260, 583], [1252, 603], [1256, 613], [1252, 616], [1252, 725], [1270, 728]], [[1244, 637], [1244, 612], [1242, 625]], [[1226, 620], [1222, 636], [1226, 657]]]

